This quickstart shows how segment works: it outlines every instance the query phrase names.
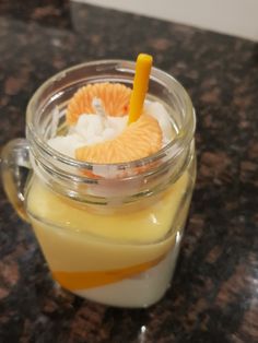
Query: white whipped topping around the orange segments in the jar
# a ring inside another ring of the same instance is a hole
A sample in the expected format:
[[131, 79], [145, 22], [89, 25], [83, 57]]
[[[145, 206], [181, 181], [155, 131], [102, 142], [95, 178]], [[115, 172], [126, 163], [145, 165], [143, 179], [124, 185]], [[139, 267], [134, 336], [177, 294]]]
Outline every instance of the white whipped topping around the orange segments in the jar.
[[[163, 132], [163, 146], [165, 146], [173, 137], [172, 123], [165, 107], [161, 103], [145, 100], [143, 113], [157, 120]], [[51, 138], [48, 144], [58, 152], [74, 158], [78, 147], [115, 139], [124, 131], [127, 122], [128, 116], [110, 117], [99, 110], [97, 115], [83, 114], [69, 129], [67, 135]]]

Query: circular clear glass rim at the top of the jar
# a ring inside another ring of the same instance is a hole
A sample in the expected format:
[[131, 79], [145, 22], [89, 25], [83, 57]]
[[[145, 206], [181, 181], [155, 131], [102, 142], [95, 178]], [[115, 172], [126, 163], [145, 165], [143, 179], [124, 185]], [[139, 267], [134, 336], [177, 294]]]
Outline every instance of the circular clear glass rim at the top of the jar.
[[[90, 169], [92, 170], [94, 167], [95, 168], [101, 168], [101, 167], [109, 167], [109, 168], [115, 168], [115, 169], [127, 169], [127, 168], [134, 168], [140, 166], [145, 166], [150, 165], [155, 161], [161, 159], [164, 154], [167, 154], [169, 152], [169, 155], [176, 156], [186, 144], [189, 144], [190, 141], [192, 140], [192, 137], [195, 134], [196, 130], [196, 114], [195, 109], [191, 103], [191, 99], [185, 90], [185, 87], [178, 82], [174, 76], [168, 74], [165, 71], [162, 71], [159, 68], [153, 67], [151, 71], [150, 79], [153, 81], [157, 81], [163, 85], [165, 85], [167, 88], [169, 87], [169, 84], [173, 84], [176, 86], [176, 88], [181, 92], [184, 95], [184, 98], [186, 100], [186, 117], [185, 117], [185, 122], [183, 123], [183, 129], [178, 131], [178, 134], [176, 135], [175, 139], [173, 139], [171, 142], [168, 142], [165, 146], [163, 146], [159, 152], [149, 155], [146, 157], [143, 157], [141, 159], [136, 159], [136, 161], [130, 161], [130, 162], [124, 162], [124, 163], [110, 163], [110, 164], [99, 164], [99, 163], [89, 163], [89, 162], [82, 162], [78, 161], [75, 158], [66, 156], [58, 151], [54, 150], [50, 145], [47, 144], [46, 141], [44, 141], [38, 134], [37, 130], [34, 126], [33, 119], [33, 114], [36, 110], [38, 99], [40, 95], [46, 91], [54, 82], [59, 81], [68, 73], [74, 72], [77, 70], [80, 70], [81, 68], [86, 68], [86, 67], [94, 67], [98, 66], [98, 71], [105, 71], [105, 69], [110, 68], [112, 66], [116, 68], [117, 71], [127, 71], [131, 72], [132, 76], [134, 74], [134, 67], [136, 62], [133, 61], [128, 61], [128, 60], [122, 60], [122, 59], [103, 59], [103, 60], [95, 60], [95, 61], [90, 61], [90, 62], [83, 62], [80, 64], [72, 66], [70, 68], [67, 68], [48, 80], [46, 80], [33, 94], [31, 100], [28, 102], [27, 109], [26, 109], [26, 123], [27, 123], [27, 129], [30, 131], [30, 137], [33, 139], [34, 143], [36, 143], [37, 147], [46, 155], [49, 157], [54, 157], [56, 161], [59, 163], [63, 163], [66, 165], [69, 165], [71, 167], [77, 167], [79, 169]], [[87, 177], [89, 178], [89, 177]]]

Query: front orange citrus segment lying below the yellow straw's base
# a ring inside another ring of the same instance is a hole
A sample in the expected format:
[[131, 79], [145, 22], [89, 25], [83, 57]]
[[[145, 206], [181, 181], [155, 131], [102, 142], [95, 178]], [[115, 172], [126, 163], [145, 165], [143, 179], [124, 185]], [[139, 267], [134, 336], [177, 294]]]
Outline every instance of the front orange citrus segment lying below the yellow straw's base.
[[140, 159], [162, 147], [162, 130], [157, 120], [142, 115], [115, 139], [78, 147], [75, 158], [89, 163], [110, 164]]

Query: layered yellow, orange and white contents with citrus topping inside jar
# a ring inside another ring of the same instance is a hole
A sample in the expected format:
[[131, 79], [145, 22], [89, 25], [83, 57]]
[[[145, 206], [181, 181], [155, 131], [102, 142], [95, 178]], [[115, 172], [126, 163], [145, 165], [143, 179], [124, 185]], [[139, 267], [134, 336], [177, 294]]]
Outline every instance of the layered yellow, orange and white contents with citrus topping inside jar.
[[[62, 287], [106, 305], [146, 307], [169, 286], [195, 182], [195, 158], [194, 153], [178, 154], [177, 164], [163, 169], [159, 158], [144, 163], [176, 140], [178, 130], [166, 105], [148, 94], [140, 115], [131, 119], [131, 87], [121, 83], [83, 85], [61, 114], [64, 125], [59, 127], [54, 118], [47, 140], [52, 151], [91, 166], [81, 170], [85, 184], [78, 187], [91, 199], [105, 201], [64, 196], [35, 173], [26, 210]], [[154, 169], [161, 172], [150, 179]]]

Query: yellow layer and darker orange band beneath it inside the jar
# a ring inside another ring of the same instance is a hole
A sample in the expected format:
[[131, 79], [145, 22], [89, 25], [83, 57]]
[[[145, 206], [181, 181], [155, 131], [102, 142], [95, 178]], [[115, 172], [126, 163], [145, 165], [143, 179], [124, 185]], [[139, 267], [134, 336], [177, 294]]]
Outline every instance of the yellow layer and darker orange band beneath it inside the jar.
[[[157, 264], [185, 224], [189, 201], [183, 200], [188, 182], [186, 172], [145, 208], [121, 205], [125, 211], [97, 213], [58, 196], [34, 177], [27, 212], [54, 276], [67, 288], [86, 288]], [[77, 273], [72, 283], [71, 273]]]

